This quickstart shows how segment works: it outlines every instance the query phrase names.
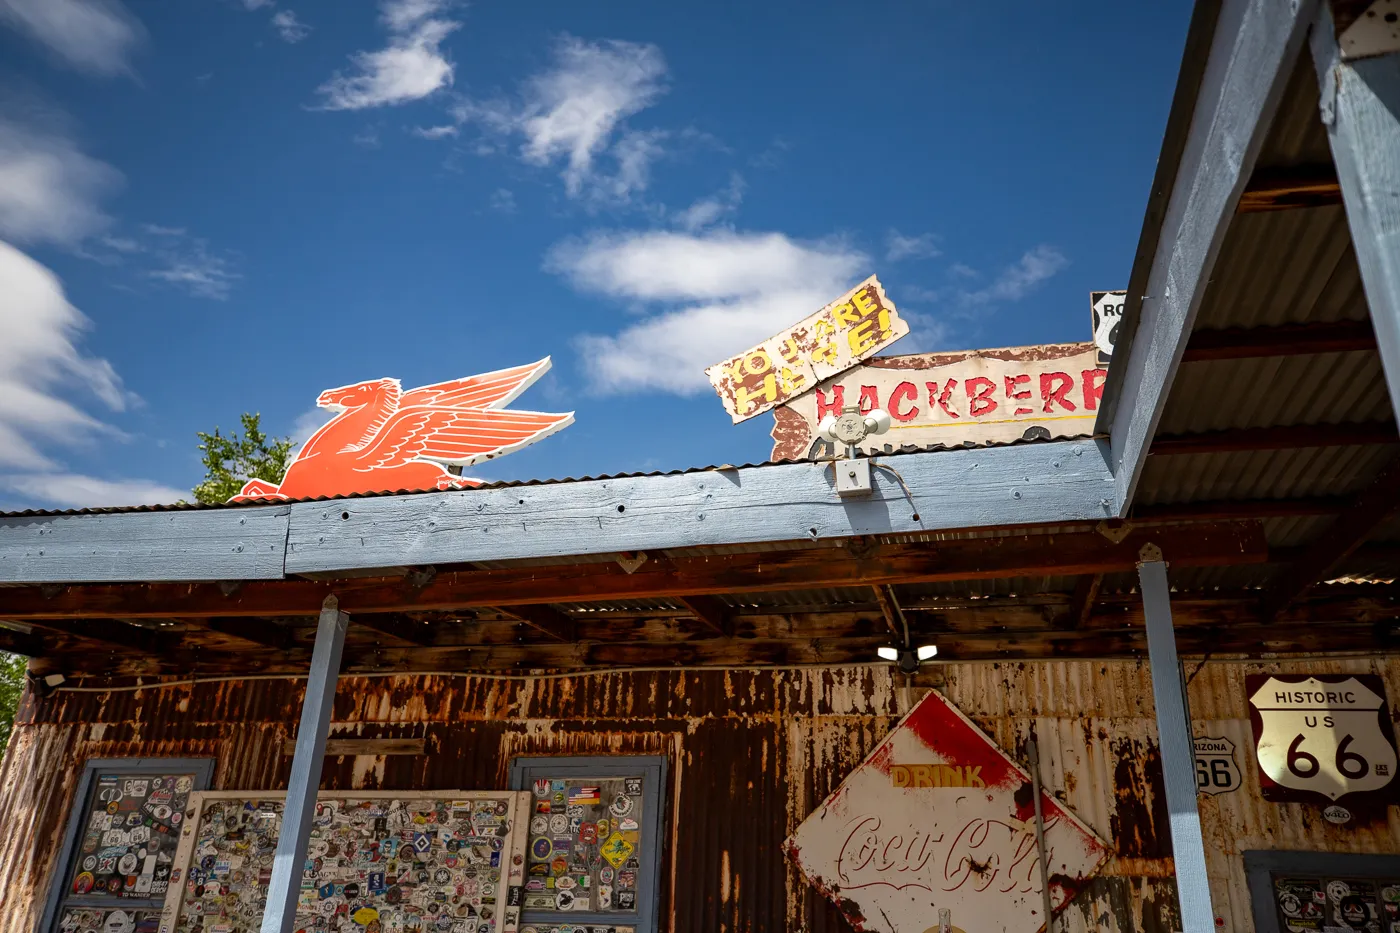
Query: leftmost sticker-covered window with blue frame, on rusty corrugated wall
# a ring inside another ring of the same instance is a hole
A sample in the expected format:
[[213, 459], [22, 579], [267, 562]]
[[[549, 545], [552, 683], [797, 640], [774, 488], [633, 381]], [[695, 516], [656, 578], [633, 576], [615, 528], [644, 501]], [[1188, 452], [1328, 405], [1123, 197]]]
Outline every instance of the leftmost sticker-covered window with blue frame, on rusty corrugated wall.
[[155, 933], [190, 792], [209, 759], [90, 761], [45, 919], [48, 933]]

